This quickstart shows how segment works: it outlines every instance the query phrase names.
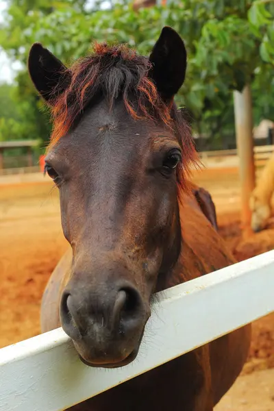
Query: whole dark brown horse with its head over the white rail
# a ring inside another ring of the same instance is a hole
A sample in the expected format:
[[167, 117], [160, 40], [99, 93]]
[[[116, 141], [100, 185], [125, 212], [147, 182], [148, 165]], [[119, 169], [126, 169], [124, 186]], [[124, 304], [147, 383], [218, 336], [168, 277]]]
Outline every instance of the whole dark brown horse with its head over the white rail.
[[[214, 207], [187, 178], [197, 155], [173, 101], [184, 42], [164, 27], [149, 58], [97, 44], [70, 69], [36, 43], [29, 73], [53, 114], [45, 171], [71, 245], [45, 291], [42, 331], [61, 324], [85, 364], [123, 366], [138, 354], [154, 292], [234, 263], [208, 221]], [[249, 341], [243, 327], [71, 409], [212, 411]]]

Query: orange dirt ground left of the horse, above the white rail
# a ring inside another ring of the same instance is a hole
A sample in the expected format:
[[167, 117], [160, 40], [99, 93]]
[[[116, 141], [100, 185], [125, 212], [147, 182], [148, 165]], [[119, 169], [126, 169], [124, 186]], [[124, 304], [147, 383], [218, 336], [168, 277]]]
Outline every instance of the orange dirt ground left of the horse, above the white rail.
[[40, 333], [42, 292], [66, 249], [49, 184], [0, 187], [0, 347]]

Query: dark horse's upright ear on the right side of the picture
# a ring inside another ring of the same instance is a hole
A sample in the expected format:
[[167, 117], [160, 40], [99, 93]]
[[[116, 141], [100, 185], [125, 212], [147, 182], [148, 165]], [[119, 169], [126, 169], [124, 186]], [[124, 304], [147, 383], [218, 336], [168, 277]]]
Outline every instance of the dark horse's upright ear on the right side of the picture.
[[186, 47], [182, 38], [164, 27], [149, 56], [152, 64], [149, 76], [164, 100], [170, 101], [186, 77]]

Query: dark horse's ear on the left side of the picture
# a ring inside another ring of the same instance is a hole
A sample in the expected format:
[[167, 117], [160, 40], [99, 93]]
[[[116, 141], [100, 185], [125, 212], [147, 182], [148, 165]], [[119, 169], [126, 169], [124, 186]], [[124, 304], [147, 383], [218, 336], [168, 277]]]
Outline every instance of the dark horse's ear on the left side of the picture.
[[69, 85], [66, 66], [38, 42], [29, 51], [28, 69], [36, 90], [49, 105]]

